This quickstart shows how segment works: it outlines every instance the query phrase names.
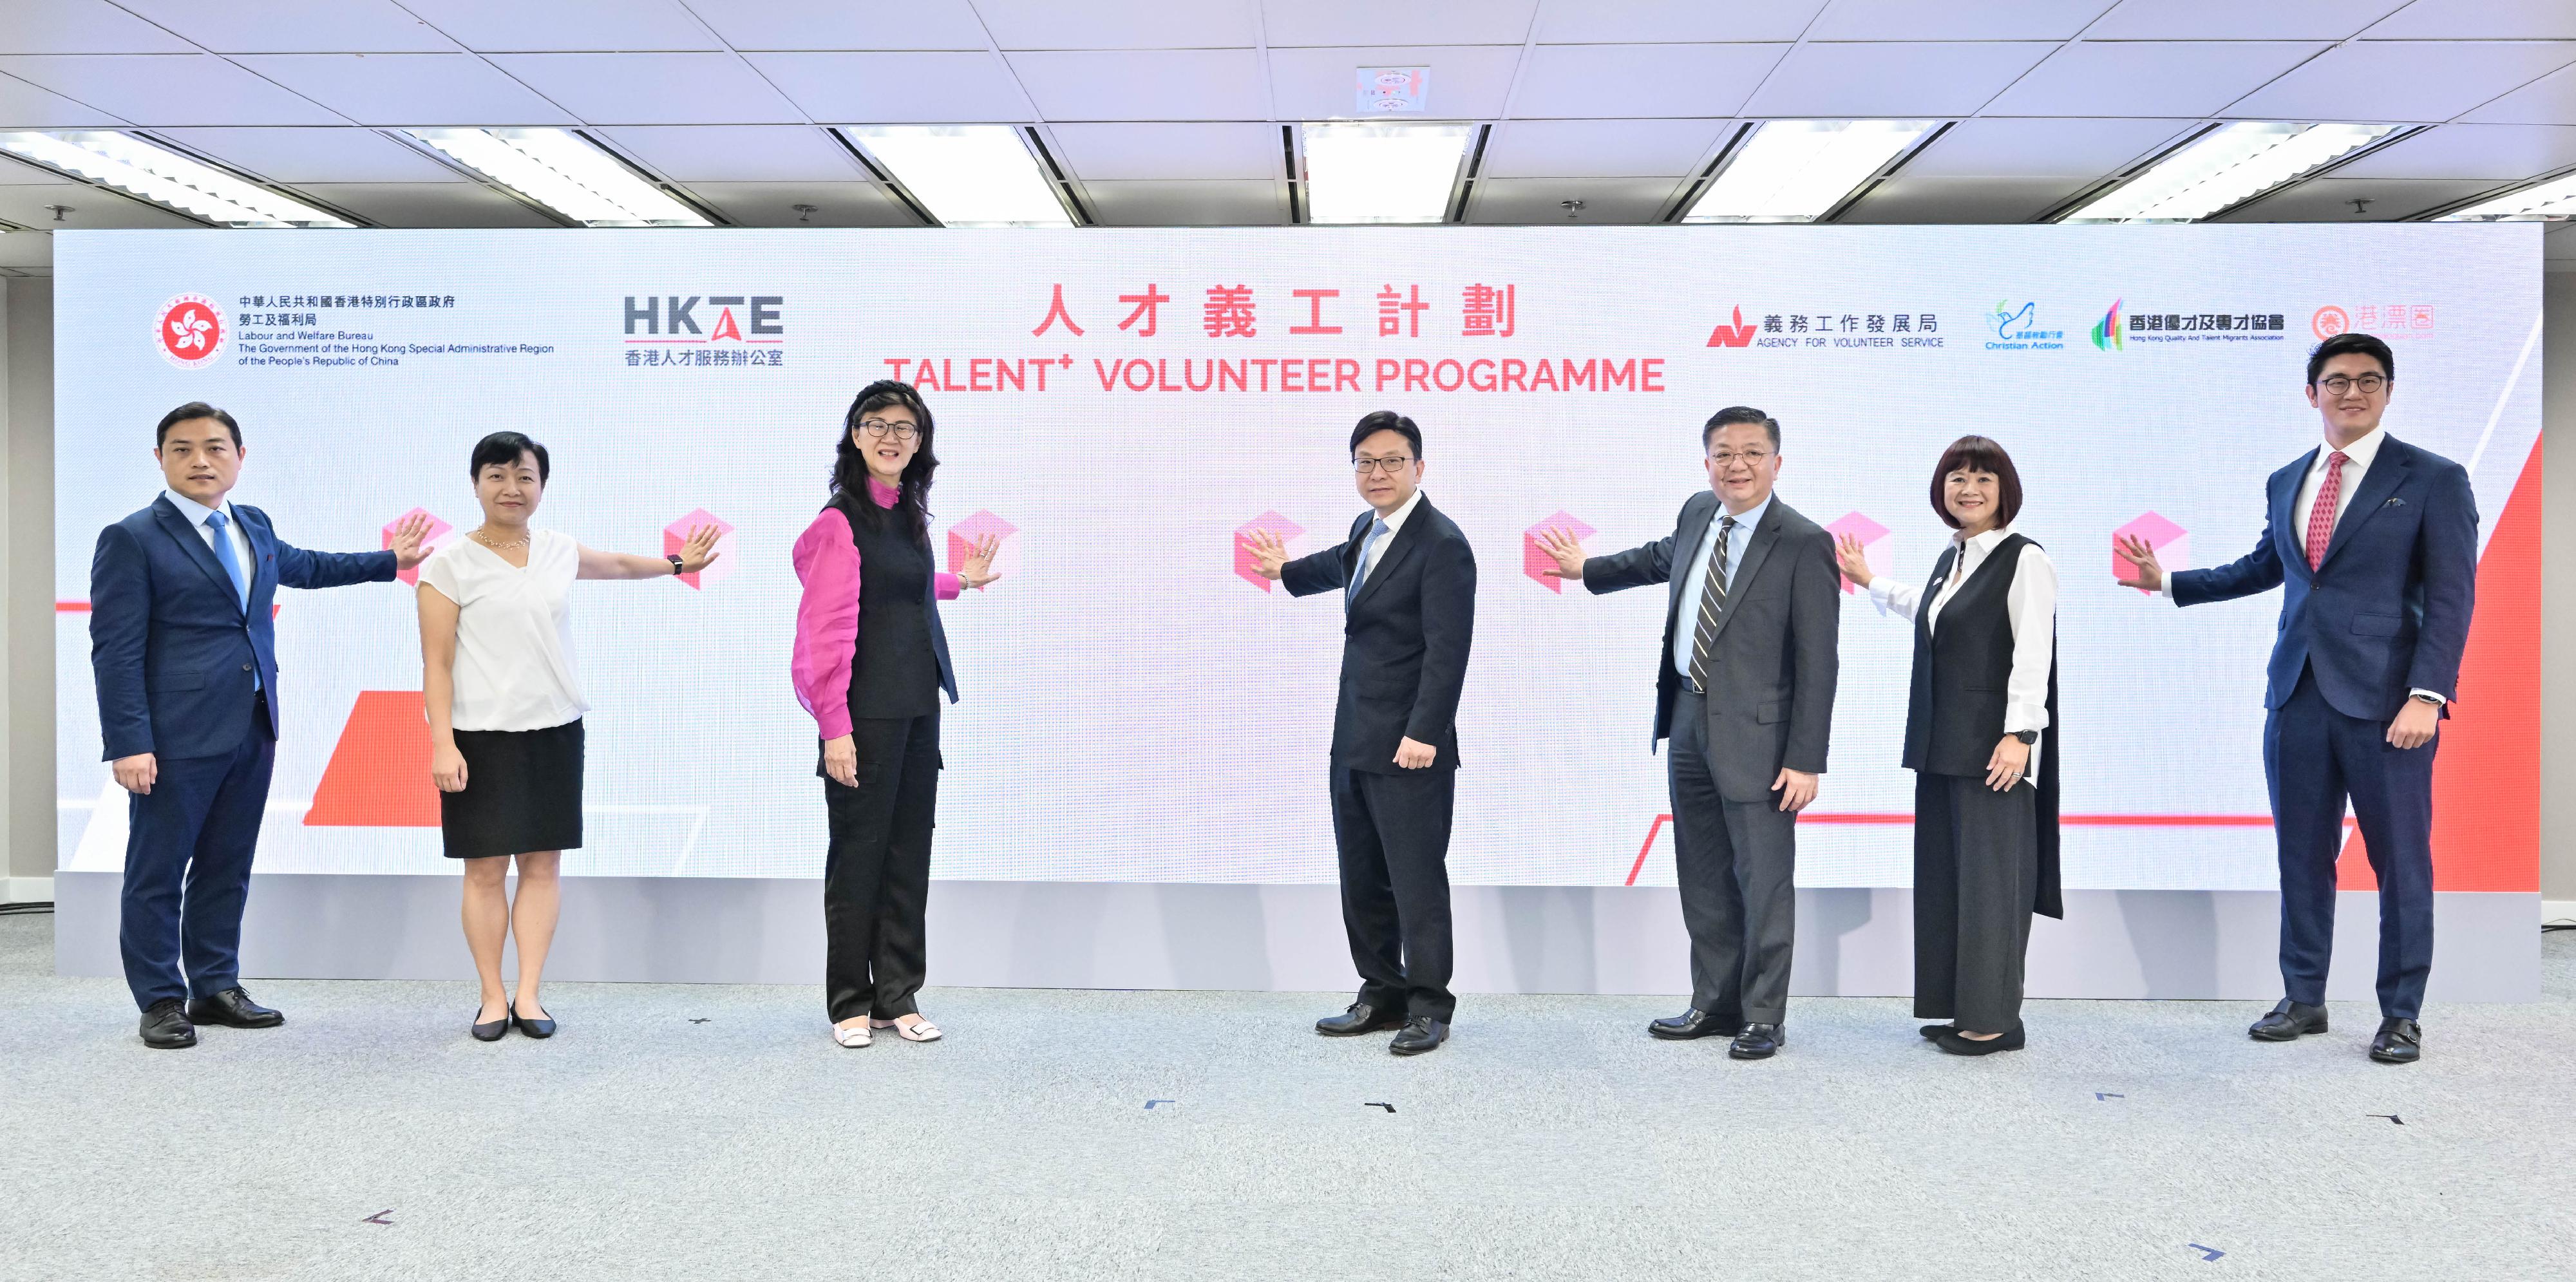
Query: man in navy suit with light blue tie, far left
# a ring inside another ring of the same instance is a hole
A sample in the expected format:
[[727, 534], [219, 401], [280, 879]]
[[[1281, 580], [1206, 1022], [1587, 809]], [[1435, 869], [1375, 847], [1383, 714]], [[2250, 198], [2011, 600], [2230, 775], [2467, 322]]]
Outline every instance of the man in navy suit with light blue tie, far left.
[[227, 502], [242, 427], [191, 402], [152, 443], [167, 489], [98, 530], [90, 667], [98, 731], [131, 793], [118, 942], [144, 1045], [196, 1045], [196, 1025], [276, 1027], [240, 983], [250, 855], [278, 752], [278, 587], [386, 582], [422, 561], [425, 517], [389, 551], [281, 543], [258, 507]]

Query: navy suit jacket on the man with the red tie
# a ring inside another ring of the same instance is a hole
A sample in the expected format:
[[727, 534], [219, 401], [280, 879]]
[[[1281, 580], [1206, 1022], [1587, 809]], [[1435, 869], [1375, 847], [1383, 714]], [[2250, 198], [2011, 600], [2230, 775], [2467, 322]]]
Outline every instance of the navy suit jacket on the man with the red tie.
[[2254, 551], [2174, 571], [2174, 605], [2285, 587], [2264, 708], [2290, 703], [2300, 669], [2316, 672], [2316, 690], [2334, 711], [2365, 721], [2393, 721], [2411, 690], [2455, 698], [2478, 592], [2478, 494], [2468, 469], [2383, 440], [2311, 571], [2308, 515], [2290, 510], [2311, 466], [2316, 451], [2264, 484], [2269, 517]]

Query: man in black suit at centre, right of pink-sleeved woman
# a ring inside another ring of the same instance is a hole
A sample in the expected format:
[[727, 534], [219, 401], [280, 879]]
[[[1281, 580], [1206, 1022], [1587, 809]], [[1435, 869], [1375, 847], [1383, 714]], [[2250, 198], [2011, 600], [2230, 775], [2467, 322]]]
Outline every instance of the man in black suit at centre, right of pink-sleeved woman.
[[1476, 636], [1476, 553], [1422, 497], [1422, 430], [1378, 409], [1350, 432], [1368, 512], [1350, 541], [1288, 559], [1252, 533], [1255, 566], [1296, 597], [1342, 595], [1342, 695], [1332, 708], [1332, 837], [1360, 999], [1314, 1025], [1327, 1037], [1401, 1027], [1419, 1055], [1448, 1040], [1448, 834], [1458, 795], [1458, 690]]

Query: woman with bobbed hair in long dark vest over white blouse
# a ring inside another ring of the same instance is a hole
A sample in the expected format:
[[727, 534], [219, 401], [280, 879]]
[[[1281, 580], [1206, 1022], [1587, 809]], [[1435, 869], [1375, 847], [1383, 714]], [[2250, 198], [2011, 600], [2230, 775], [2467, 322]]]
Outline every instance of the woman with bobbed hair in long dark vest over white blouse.
[[1914, 1014], [1953, 1055], [2022, 1048], [2030, 914], [2058, 904], [2058, 569], [2012, 533], [2022, 476], [1981, 435], [1932, 469], [1953, 530], [1914, 592], [1870, 574], [1842, 535], [1842, 571], [1880, 613], [1914, 620], [1906, 767], [1914, 770]]

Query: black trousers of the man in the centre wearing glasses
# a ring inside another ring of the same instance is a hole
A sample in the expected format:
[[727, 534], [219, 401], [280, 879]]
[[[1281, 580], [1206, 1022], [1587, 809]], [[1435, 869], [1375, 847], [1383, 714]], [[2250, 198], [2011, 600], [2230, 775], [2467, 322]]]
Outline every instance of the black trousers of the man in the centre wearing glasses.
[[1332, 837], [1342, 852], [1342, 929], [1360, 1001], [1448, 1022], [1455, 950], [1448, 916], [1448, 829], [1455, 770], [1373, 775], [1332, 767]]

